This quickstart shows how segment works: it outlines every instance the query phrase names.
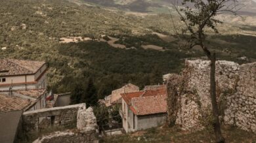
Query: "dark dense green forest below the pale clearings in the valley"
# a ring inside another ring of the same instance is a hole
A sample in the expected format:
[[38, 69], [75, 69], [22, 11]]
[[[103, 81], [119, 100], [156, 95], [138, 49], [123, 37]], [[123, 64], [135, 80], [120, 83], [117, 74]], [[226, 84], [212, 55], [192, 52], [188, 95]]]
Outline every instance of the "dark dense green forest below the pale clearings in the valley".
[[49, 62], [50, 67], [59, 69], [64, 76], [60, 84], [56, 85], [56, 90], [69, 90], [73, 83], [84, 83], [85, 79], [93, 77], [99, 98], [109, 95], [113, 89], [128, 82], [140, 88], [161, 84], [163, 74], [179, 72], [184, 58], [192, 57], [191, 54], [175, 50], [122, 50], [113, 48], [106, 42], [95, 41], [61, 44], [58, 52], [74, 61], [67, 59], [60, 63]]

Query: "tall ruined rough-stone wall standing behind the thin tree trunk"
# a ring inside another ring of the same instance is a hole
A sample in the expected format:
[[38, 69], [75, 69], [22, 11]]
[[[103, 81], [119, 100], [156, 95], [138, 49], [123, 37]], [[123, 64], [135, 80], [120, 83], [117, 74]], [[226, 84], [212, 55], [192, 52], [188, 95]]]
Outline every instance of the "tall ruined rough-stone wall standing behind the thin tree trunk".
[[[184, 130], [202, 129], [202, 112], [211, 109], [209, 61], [186, 61], [184, 91], [179, 95], [176, 124]], [[217, 100], [222, 123], [256, 132], [256, 63], [217, 61]], [[169, 81], [172, 82], [172, 81]]]

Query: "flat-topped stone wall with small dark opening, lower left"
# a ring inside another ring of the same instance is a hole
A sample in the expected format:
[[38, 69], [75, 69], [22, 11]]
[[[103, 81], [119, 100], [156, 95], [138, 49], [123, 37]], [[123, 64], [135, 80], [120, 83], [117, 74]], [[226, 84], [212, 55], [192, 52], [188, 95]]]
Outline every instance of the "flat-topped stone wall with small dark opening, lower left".
[[31, 133], [51, 126], [73, 126], [77, 121], [77, 111], [80, 108], [85, 108], [85, 104], [24, 112], [22, 115], [24, 131]]

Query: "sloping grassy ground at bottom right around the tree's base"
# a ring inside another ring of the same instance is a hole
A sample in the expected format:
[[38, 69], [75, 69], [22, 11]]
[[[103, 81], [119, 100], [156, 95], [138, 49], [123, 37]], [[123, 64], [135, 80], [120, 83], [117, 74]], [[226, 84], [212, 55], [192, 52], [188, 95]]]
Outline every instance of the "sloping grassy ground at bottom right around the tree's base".
[[[234, 127], [223, 127], [226, 142], [255, 142], [256, 135]], [[125, 135], [108, 136], [100, 142], [215, 142], [214, 133], [196, 131], [190, 133], [175, 128], [159, 127]]]

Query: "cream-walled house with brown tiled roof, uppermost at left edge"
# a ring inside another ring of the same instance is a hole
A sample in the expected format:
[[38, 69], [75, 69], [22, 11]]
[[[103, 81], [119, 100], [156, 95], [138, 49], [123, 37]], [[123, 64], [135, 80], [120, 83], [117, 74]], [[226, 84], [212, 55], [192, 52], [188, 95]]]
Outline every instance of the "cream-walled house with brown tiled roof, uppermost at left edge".
[[44, 61], [0, 59], [0, 91], [46, 88], [46, 72]]

